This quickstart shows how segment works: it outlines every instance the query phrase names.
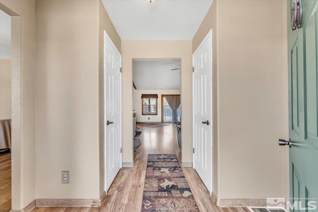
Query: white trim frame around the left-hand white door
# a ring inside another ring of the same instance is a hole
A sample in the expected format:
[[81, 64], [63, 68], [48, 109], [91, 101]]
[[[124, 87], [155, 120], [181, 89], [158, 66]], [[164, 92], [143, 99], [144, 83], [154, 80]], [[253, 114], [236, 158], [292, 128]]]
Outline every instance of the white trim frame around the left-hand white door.
[[[106, 76], [107, 76], [107, 70], [106, 70], [106, 39], [109, 41], [110, 45], [113, 47], [113, 49], [115, 50], [115, 52], [120, 55], [120, 69], [122, 68], [122, 55], [120, 54], [120, 52], [118, 51], [118, 49], [116, 48], [115, 44], [113, 43], [113, 41], [111, 40], [111, 38], [109, 37], [109, 35], [107, 34], [107, 32], [104, 30], [104, 177], [105, 177], [105, 182], [104, 182], [104, 189], [105, 189], [105, 193], [107, 194], [107, 173], [106, 173], [106, 164], [107, 164], [107, 145], [106, 145], [106, 120], [107, 120], [107, 113], [106, 113]], [[121, 72], [121, 71], [120, 71]], [[119, 79], [119, 106], [120, 106], [120, 123], [119, 123], [119, 141], [120, 141], [120, 149], [122, 149], [122, 74], [120, 73], [120, 79]], [[122, 151], [120, 152], [120, 168], [123, 167], [123, 154]]]

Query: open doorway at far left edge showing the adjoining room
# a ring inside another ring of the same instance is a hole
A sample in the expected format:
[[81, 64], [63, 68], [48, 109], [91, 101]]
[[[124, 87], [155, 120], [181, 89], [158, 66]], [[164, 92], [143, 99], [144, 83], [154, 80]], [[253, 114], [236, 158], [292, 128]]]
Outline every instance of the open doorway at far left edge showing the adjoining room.
[[11, 210], [11, 16], [0, 10], [0, 194], [1, 209]]

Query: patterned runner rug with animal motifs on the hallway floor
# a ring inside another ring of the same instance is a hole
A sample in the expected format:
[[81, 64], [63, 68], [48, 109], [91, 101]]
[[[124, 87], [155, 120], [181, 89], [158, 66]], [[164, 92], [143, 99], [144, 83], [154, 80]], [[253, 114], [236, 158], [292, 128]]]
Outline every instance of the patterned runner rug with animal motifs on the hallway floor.
[[198, 212], [174, 154], [149, 154], [142, 212]]

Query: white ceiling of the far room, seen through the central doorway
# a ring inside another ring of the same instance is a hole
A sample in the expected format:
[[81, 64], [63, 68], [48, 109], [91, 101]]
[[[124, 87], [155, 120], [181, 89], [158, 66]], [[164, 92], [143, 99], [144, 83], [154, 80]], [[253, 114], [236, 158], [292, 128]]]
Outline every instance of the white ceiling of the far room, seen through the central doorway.
[[134, 83], [138, 90], [179, 90], [179, 60], [138, 60], [133, 62]]

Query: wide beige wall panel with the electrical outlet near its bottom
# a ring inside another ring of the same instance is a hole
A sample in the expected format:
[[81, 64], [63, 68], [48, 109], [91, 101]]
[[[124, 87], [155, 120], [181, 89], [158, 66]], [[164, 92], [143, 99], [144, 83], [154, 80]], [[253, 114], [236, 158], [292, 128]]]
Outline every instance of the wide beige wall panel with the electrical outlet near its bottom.
[[99, 198], [98, 1], [36, 0], [35, 12], [36, 198]]

